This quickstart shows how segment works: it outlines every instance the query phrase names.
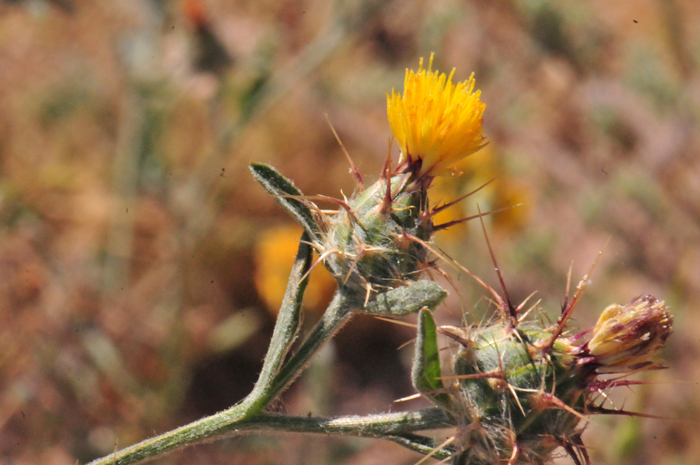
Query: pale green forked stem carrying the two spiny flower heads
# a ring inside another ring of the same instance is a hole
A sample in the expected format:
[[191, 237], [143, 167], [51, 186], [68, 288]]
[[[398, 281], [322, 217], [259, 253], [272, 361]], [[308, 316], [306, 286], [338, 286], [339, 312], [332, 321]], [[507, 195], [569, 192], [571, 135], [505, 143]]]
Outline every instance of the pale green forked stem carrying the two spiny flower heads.
[[[429, 438], [409, 433], [415, 430], [445, 427], [446, 417], [437, 409], [368, 417], [342, 417], [335, 420], [284, 417], [262, 413], [265, 407], [301, 374], [313, 355], [350, 319], [353, 308], [357, 307], [352, 293], [342, 287], [339, 288], [311, 334], [282, 366], [299, 327], [301, 300], [307, 281], [304, 277], [307, 275], [311, 260], [311, 249], [306, 245], [307, 241], [308, 236], [304, 233], [287, 286], [287, 294], [270, 341], [270, 349], [253, 391], [242, 402], [223, 412], [147, 439], [90, 462], [89, 465], [127, 465], [205, 440], [222, 438], [252, 429], [383, 437], [422, 453], [432, 451], [433, 446]], [[397, 290], [394, 293], [395, 296], [392, 294], [391, 298], [387, 298], [382, 304], [388, 309], [394, 306], [401, 308], [433, 306], [444, 298], [444, 291], [439, 287], [426, 288], [425, 283], [415, 283], [405, 290]], [[396, 313], [396, 311], [390, 313]], [[440, 454], [444, 456], [443, 452]]]

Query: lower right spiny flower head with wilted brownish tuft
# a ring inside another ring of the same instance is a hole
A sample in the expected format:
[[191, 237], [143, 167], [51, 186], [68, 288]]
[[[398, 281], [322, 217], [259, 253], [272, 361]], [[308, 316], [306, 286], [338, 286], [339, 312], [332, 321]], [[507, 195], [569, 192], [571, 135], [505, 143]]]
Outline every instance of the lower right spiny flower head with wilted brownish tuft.
[[[421, 339], [421, 334], [430, 334], [426, 326], [434, 326], [430, 312], [421, 312], [414, 385], [458, 425], [452, 463], [545, 464], [556, 448], [563, 447], [576, 464], [588, 464], [581, 440], [586, 415], [635, 415], [604, 408], [604, 391], [641, 384], [623, 378], [660, 367], [651, 359], [671, 334], [673, 317], [663, 302], [638, 297], [627, 305], [608, 307], [591, 330], [565, 336], [564, 326], [578, 295], [550, 328], [520, 323], [519, 309], [512, 306], [510, 310], [504, 306], [504, 317], [493, 324], [443, 327], [440, 331], [458, 341], [460, 349], [446, 370], [450, 375], [444, 377], [451, 384], [428, 383], [432, 389], [427, 391], [422, 381], [425, 365], [420, 364], [429, 359], [425, 352], [437, 342]], [[509, 313], [516, 318], [508, 318]], [[599, 378], [610, 373], [622, 376]]]

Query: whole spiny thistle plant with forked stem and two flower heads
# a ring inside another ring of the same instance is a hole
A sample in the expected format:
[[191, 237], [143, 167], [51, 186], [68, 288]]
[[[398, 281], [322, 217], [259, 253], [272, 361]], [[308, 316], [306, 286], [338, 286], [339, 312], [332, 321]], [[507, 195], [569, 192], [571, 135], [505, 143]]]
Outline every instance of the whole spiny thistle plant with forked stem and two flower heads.
[[[427, 270], [442, 272], [437, 261], [443, 254], [431, 240], [456, 222], [435, 224], [433, 219], [462, 199], [431, 206], [430, 186], [436, 176], [456, 174], [453, 165], [486, 143], [481, 128], [485, 105], [474, 90], [474, 79], [454, 84], [453, 74], [433, 71], [432, 56], [427, 69], [421, 60], [418, 71], [407, 70], [404, 93], [387, 96], [400, 159], [392, 166], [388, 156], [379, 180], [370, 186], [350, 162], [358, 189], [349, 199], [305, 196], [274, 168], [251, 165], [255, 179], [304, 229], [255, 387], [227, 410], [116, 451], [93, 465], [136, 463], [251, 430], [385, 439], [427, 458], [464, 465], [545, 464], [563, 448], [582, 464], [590, 463], [581, 439], [590, 415], [645, 416], [605, 404], [610, 389], [640, 384], [627, 379], [629, 375], [661, 367], [653, 359], [670, 335], [673, 319], [654, 297], [611, 305], [595, 326], [576, 332], [569, 322], [590, 272], [571, 298], [567, 290], [561, 315], [549, 326], [529, 317], [536, 306], [514, 305], [505, 285], [501, 295], [474, 276], [491, 294], [496, 317], [466, 327], [436, 324], [433, 312], [447, 292], [421, 276]], [[323, 210], [321, 202], [337, 210]], [[492, 212], [477, 217], [488, 213]], [[490, 249], [488, 239], [487, 245]], [[330, 270], [337, 290], [318, 324], [290, 355], [309, 272], [315, 266]], [[503, 283], [500, 272], [498, 277]], [[412, 381], [434, 407], [340, 418], [269, 412], [271, 402], [355, 313], [392, 318], [418, 314]], [[440, 357], [439, 334], [456, 347], [446, 361]], [[444, 428], [454, 431], [444, 442], [418, 434]]]

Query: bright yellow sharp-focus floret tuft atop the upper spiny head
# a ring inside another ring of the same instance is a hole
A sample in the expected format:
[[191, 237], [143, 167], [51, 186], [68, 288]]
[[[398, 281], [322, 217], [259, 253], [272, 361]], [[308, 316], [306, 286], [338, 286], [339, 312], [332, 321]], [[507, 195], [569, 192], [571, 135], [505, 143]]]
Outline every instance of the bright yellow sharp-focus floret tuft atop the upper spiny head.
[[482, 135], [482, 116], [486, 105], [474, 92], [474, 75], [457, 85], [450, 76], [428, 69], [420, 60], [418, 72], [406, 70], [404, 94], [392, 89], [387, 94], [389, 125], [401, 149], [401, 162], [417, 176], [439, 176], [452, 172], [450, 167], [476, 152], [486, 142]]

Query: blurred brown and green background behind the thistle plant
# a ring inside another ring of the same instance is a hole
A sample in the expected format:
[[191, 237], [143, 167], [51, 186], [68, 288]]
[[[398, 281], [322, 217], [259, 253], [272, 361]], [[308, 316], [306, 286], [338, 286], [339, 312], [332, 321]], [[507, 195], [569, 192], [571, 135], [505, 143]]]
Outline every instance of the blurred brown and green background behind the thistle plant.
[[[439, 221], [489, 217], [513, 300], [556, 318], [666, 300], [669, 370], [615, 406], [697, 422], [700, 4], [691, 0], [14, 0], [0, 2], [0, 463], [85, 463], [222, 410], [261, 367], [300, 228], [248, 172], [307, 194], [366, 179], [389, 147], [386, 92], [435, 52], [473, 71], [490, 144], [431, 200], [496, 181]], [[394, 159], [397, 157], [394, 147]], [[496, 286], [478, 223], [436, 242]], [[573, 265], [572, 265], [573, 263]], [[455, 285], [441, 324], [480, 321]], [[311, 325], [334, 289], [318, 270]], [[461, 295], [461, 296], [460, 296]], [[275, 405], [366, 414], [413, 393], [411, 328], [355, 318]], [[446, 341], [442, 341], [446, 344]], [[447, 433], [446, 433], [447, 434]], [[696, 464], [695, 423], [595, 417], [596, 464]], [[254, 434], [159, 464], [412, 464], [372, 440]], [[571, 463], [561, 458], [558, 463]]]

